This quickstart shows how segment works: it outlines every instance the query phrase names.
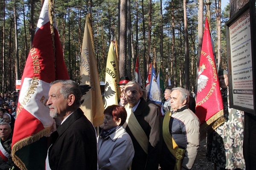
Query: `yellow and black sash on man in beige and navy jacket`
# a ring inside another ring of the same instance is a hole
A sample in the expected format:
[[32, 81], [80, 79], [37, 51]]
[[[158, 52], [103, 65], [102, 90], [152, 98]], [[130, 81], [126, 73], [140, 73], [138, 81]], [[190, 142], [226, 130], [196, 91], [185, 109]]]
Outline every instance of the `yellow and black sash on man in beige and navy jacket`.
[[176, 159], [175, 170], [181, 170], [182, 159], [185, 155], [185, 150], [178, 147], [172, 135], [169, 132], [169, 122], [171, 119], [171, 112], [167, 111], [163, 119], [163, 140], [168, 149]]

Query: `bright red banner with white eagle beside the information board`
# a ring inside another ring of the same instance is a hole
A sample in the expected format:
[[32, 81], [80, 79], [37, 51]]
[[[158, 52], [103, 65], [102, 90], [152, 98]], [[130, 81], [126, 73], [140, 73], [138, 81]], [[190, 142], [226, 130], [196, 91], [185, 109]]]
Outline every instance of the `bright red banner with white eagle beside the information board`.
[[205, 133], [209, 128], [217, 128], [221, 125], [222, 119], [224, 120], [223, 104], [217, 73], [218, 71], [212, 51], [209, 23], [206, 19], [199, 63], [195, 108], [195, 114], [201, 122], [201, 133]]

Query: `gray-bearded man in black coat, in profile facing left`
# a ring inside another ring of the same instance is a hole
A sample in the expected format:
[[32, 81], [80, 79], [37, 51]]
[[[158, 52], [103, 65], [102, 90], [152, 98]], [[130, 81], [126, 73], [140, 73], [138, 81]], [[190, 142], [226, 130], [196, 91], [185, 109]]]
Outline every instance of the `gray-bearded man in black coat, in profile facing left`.
[[51, 135], [47, 170], [97, 170], [96, 131], [79, 108], [79, 85], [72, 80], [51, 83], [47, 105], [50, 116], [61, 119]]

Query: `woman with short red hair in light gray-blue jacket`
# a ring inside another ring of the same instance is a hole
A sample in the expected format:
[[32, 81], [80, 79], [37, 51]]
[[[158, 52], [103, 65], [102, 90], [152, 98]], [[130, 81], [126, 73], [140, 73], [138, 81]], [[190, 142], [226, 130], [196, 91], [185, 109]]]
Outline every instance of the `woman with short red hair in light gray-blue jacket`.
[[99, 170], [129, 170], [134, 147], [123, 127], [126, 118], [122, 106], [111, 105], [105, 109], [104, 126], [98, 137]]

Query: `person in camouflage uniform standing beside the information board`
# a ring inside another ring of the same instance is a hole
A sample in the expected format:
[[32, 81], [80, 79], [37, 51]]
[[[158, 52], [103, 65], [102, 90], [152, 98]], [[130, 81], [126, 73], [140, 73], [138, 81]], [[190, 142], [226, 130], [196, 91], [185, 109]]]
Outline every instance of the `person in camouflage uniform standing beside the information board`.
[[245, 170], [244, 112], [229, 106], [228, 72], [219, 69], [218, 79], [225, 121], [207, 134], [207, 159], [215, 163], [220, 170]]

